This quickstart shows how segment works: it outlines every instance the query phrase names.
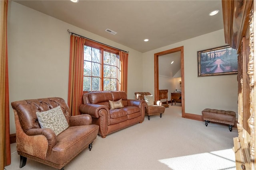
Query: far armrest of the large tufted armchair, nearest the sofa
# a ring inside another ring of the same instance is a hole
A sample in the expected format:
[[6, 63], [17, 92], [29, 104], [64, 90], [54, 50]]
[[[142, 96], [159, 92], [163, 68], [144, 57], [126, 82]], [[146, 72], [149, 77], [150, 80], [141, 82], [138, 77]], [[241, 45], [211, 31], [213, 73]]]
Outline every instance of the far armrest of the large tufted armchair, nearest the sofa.
[[70, 126], [91, 125], [92, 117], [88, 114], [70, 116], [69, 123]]

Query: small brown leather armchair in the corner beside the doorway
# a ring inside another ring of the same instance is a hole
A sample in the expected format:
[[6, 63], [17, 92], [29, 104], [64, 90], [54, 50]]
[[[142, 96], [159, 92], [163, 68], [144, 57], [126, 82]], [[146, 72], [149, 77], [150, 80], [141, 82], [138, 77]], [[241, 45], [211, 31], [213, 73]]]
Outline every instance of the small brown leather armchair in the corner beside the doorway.
[[[151, 95], [150, 92], [135, 92], [134, 94], [137, 100], [145, 100], [144, 96]], [[160, 117], [162, 117], [164, 111], [165, 107], [162, 106], [162, 102], [158, 100], [154, 101], [153, 105], [146, 104], [145, 115], [148, 115], [148, 120], [150, 120], [150, 115], [160, 114]]]

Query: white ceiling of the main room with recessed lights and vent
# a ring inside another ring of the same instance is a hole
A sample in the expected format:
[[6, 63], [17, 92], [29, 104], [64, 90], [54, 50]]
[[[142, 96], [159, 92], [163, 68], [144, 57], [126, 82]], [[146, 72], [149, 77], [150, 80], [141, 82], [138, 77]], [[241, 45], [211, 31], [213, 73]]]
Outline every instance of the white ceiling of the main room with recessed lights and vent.
[[[223, 29], [221, 0], [15, 2], [142, 53]], [[220, 10], [220, 13], [210, 17], [208, 14], [212, 10]], [[116, 31], [117, 34], [107, 33], [106, 29]], [[148, 42], [143, 41], [146, 38]]]

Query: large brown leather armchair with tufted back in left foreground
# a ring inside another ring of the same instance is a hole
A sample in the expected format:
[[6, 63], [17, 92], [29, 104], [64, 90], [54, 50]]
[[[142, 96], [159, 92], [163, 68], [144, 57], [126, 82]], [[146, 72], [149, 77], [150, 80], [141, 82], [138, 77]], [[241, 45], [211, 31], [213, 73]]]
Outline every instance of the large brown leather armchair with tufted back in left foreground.
[[[14, 110], [20, 168], [30, 158], [64, 170], [64, 166], [82, 150], [88, 146], [92, 149], [99, 126], [92, 125], [90, 115], [71, 116], [70, 109], [62, 98], [21, 100], [12, 102], [11, 105]], [[40, 127], [36, 112], [48, 111], [58, 106], [68, 125], [66, 130], [56, 136], [52, 129]]]

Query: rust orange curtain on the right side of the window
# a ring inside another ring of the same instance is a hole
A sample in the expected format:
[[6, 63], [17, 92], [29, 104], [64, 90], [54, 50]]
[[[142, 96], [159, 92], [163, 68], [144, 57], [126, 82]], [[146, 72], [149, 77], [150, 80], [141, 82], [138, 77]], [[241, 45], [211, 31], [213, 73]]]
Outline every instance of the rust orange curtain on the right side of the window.
[[119, 52], [121, 62], [121, 91], [127, 93], [127, 77], [128, 77], [128, 53], [124, 51]]

